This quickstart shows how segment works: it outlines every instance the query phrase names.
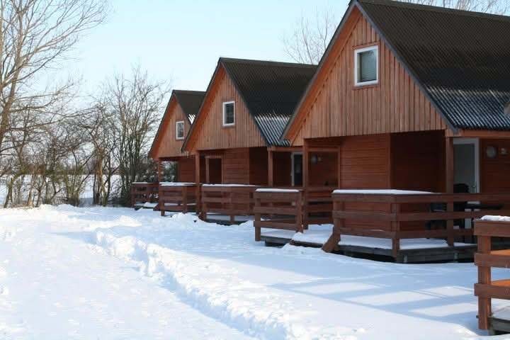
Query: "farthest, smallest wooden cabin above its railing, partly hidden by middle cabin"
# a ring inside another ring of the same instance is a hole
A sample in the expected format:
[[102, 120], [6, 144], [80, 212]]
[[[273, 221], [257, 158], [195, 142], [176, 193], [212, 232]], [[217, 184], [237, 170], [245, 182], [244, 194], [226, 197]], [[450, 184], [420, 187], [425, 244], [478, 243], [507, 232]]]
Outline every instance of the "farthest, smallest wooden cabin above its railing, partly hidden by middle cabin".
[[[174, 90], [157, 134], [152, 142], [149, 157], [155, 162], [176, 162], [177, 171], [174, 181], [195, 182], [195, 159], [193, 154], [181, 151], [184, 139], [191, 129], [200, 104], [203, 101], [203, 91]], [[158, 166], [158, 179], [161, 178], [161, 166]]]

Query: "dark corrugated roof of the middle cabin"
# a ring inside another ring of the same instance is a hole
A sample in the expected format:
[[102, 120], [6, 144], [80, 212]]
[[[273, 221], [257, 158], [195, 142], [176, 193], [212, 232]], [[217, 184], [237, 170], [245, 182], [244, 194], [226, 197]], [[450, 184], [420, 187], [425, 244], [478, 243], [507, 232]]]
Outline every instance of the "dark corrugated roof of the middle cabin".
[[288, 146], [280, 136], [316, 65], [220, 58], [268, 145]]

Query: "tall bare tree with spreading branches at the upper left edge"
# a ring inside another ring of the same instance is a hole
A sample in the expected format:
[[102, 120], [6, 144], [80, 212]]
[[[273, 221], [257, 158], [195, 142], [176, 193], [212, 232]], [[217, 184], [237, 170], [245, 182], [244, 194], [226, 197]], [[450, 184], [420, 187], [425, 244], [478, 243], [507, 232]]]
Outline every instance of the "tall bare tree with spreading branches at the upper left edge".
[[35, 83], [105, 13], [103, 0], [0, 0], [0, 150], [14, 113], [42, 110], [67, 93], [72, 82], [46, 89]]

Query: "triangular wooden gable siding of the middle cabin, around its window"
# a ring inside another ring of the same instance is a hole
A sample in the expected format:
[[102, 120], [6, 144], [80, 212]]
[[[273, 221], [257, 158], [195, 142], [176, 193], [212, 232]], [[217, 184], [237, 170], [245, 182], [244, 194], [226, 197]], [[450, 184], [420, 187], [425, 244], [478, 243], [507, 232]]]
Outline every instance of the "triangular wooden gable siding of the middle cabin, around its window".
[[[242, 97], [225, 70], [217, 70], [212, 86], [205, 95], [196, 127], [186, 149], [232, 149], [239, 147], [265, 147], [259, 128], [251, 118]], [[223, 102], [235, 102], [235, 125], [223, 127]]]

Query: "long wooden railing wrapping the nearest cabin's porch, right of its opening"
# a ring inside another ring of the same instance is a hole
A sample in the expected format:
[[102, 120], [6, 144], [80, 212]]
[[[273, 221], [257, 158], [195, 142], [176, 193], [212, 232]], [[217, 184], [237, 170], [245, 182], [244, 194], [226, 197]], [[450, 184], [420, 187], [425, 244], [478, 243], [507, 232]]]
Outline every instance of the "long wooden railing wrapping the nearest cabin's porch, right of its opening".
[[[333, 193], [334, 228], [322, 249], [333, 251], [341, 234], [392, 239], [395, 257], [400, 239], [446, 238], [448, 246], [453, 246], [456, 237], [472, 236], [472, 229], [455, 229], [455, 220], [510, 213], [510, 210], [454, 211], [455, 203], [476, 201], [509, 203], [510, 194]], [[432, 210], [433, 205], [445, 208]], [[440, 229], [433, 229], [436, 225]]]

